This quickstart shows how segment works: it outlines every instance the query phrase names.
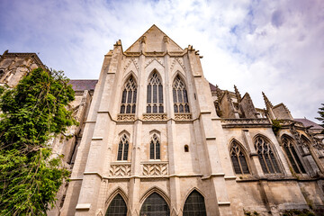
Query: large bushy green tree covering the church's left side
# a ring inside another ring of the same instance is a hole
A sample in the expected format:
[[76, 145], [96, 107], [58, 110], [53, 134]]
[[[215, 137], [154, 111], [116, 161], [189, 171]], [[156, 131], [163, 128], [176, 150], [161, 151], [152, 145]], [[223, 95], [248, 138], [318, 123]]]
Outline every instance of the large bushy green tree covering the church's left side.
[[49, 139], [76, 124], [62, 72], [32, 70], [0, 90], [0, 215], [46, 215], [69, 172]]

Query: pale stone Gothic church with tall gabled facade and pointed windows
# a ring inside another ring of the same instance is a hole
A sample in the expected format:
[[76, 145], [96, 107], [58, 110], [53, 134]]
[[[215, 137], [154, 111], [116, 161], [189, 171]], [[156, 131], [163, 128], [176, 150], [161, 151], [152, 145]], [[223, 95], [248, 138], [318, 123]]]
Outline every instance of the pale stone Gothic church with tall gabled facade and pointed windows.
[[[98, 80], [70, 81], [80, 125], [52, 140], [71, 176], [49, 215], [323, 212], [323, 128], [266, 94], [259, 109], [211, 85], [200, 58], [153, 25], [129, 49], [117, 41]], [[25, 67], [43, 65], [4, 52], [0, 83], [14, 86]]]

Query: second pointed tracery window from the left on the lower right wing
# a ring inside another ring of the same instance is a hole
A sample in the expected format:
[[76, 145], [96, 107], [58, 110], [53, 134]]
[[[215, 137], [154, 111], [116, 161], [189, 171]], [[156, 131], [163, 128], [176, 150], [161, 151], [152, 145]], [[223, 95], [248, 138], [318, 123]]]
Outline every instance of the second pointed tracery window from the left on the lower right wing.
[[265, 174], [281, 173], [269, 141], [262, 137], [257, 137], [255, 147], [263, 172]]

